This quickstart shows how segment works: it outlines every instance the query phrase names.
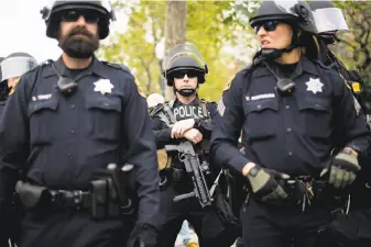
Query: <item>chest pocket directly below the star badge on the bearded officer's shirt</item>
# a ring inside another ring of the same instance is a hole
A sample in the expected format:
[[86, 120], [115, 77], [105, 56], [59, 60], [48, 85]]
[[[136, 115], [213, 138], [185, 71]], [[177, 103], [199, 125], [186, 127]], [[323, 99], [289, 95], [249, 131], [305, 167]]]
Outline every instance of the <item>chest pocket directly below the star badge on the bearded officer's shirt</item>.
[[121, 100], [117, 97], [98, 97], [86, 100], [88, 133], [92, 138], [117, 141], [120, 134]]

